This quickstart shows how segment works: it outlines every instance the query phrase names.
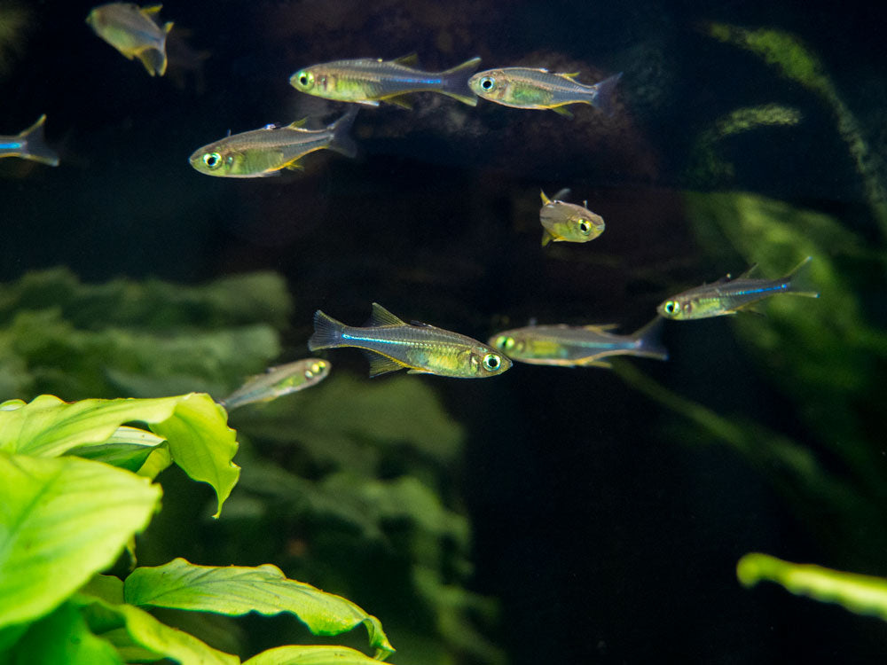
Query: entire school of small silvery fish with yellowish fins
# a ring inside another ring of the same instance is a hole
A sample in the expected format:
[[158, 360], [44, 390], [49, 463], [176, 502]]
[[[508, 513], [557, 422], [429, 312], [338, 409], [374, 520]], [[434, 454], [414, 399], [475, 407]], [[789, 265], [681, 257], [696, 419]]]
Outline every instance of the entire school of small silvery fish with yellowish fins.
[[[127, 59], [138, 59], [148, 74], [162, 76], [167, 69], [166, 38], [173, 22], [158, 22], [161, 5], [139, 7], [130, 3], [109, 3], [92, 9], [87, 24]], [[552, 110], [564, 116], [572, 113], [565, 106], [585, 104], [607, 115], [614, 113], [613, 97], [622, 74], [586, 84], [578, 73], [549, 72], [544, 68], [506, 66], [478, 72], [480, 58], [440, 72], [420, 69], [413, 55], [383, 60], [342, 59], [303, 66], [289, 78], [302, 93], [336, 102], [379, 106], [381, 102], [411, 108], [413, 93], [435, 92], [476, 106], [484, 99], [502, 106], [530, 110]], [[252, 178], [277, 176], [283, 169], [302, 168], [302, 158], [319, 150], [331, 150], [354, 157], [357, 145], [349, 130], [357, 116], [350, 106], [326, 127], [308, 129], [308, 119], [287, 126], [266, 125], [231, 134], [195, 150], [189, 163], [207, 176]], [[50, 166], [59, 165], [59, 156], [46, 145], [42, 115], [31, 127], [12, 136], [0, 136], [0, 158], [18, 157]], [[600, 237], [605, 225], [600, 215], [561, 199], [569, 189], [549, 199], [541, 193], [542, 246], [550, 242], [585, 243]], [[612, 356], [641, 356], [666, 360], [660, 334], [666, 319], [675, 321], [734, 315], [754, 309], [760, 301], [778, 294], [816, 298], [809, 286], [806, 257], [783, 278], [754, 278], [755, 267], [738, 278], [729, 275], [717, 282], [695, 286], [672, 295], [656, 309], [657, 316], [632, 334], [616, 334], [612, 324], [528, 325], [496, 332], [487, 344], [459, 332], [434, 325], [406, 323], [373, 302], [373, 313], [365, 326], [344, 325], [318, 311], [310, 350], [352, 347], [365, 352], [370, 375], [405, 369], [409, 373], [435, 374], [460, 379], [498, 376], [513, 365], [561, 367], [608, 367]], [[304, 358], [247, 379], [246, 383], [219, 400], [232, 410], [249, 403], [263, 403], [315, 386], [325, 379], [331, 365], [323, 358]]]

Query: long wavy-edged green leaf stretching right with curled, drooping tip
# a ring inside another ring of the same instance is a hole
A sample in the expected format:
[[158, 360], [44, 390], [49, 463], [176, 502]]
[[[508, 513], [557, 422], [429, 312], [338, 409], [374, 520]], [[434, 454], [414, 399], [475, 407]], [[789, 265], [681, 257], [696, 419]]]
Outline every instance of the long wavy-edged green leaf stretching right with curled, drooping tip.
[[173, 559], [164, 566], [136, 568], [123, 583], [126, 601], [218, 614], [295, 614], [315, 635], [338, 635], [363, 623], [378, 653], [394, 647], [381, 623], [350, 600], [310, 584], [288, 580], [275, 566], [195, 566]]

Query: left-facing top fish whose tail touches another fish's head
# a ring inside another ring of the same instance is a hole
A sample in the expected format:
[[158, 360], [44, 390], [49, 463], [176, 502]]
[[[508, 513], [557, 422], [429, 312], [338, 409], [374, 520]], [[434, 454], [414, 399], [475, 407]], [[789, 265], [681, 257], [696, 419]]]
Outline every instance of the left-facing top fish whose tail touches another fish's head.
[[424, 91], [439, 92], [475, 106], [477, 98], [467, 82], [480, 62], [480, 58], [472, 58], [445, 72], [423, 72], [410, 66], [415, 64], [413, 55], [396, 60], [336, 60], [300, 69], [290, 76], [289, 83], [309, 95], [367, 106], [379, 106], [384, 101], [410, 108], [405, 95]]

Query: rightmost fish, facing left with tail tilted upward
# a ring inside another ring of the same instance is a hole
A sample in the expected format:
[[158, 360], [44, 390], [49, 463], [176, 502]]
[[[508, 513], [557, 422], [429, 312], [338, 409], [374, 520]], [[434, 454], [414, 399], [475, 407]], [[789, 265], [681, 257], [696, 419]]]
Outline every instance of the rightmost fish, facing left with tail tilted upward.
[[812, 261], [808, 256], [804, 261], [780, 279], [752, 278], [757, 265], [751, 266], [738, 278], [730, 275], [711, 284], [696, 286], [663, 301], [657, 308], [663, 317], [678, 321], [697, 318], [720, 317], [735, 314], [741, 309], [750, 309], [750, 305], [779, 293], [801, 295], [807, 298], [819, 298], [820, 294], [802, 284], [803, 270]]

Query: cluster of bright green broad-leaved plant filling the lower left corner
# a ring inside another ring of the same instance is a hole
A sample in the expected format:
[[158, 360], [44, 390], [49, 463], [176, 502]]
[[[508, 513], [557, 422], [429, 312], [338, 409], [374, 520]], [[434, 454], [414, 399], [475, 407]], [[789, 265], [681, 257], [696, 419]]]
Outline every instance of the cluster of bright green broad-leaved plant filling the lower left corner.
[[[133, 422], [145, 426], [126, 425]], [[0, 404], [0, 660], [240, 662], [158, 621], [153, 607], [288, 613], [314, 635], [364, 625], [375, 657], [392, 653], [375, 617], [274, 566], [207, 567], [177, 558], [124, 579], [102, 574], [160, 509], [153, 478], [166, 465], [208, 482], [218, 517], [239, 477], [235, 437], [209, 395], [76, 403], [41, 395]], [[373, 659], [346, 647], [288, 646], [247, 662], [294, 661]]]

